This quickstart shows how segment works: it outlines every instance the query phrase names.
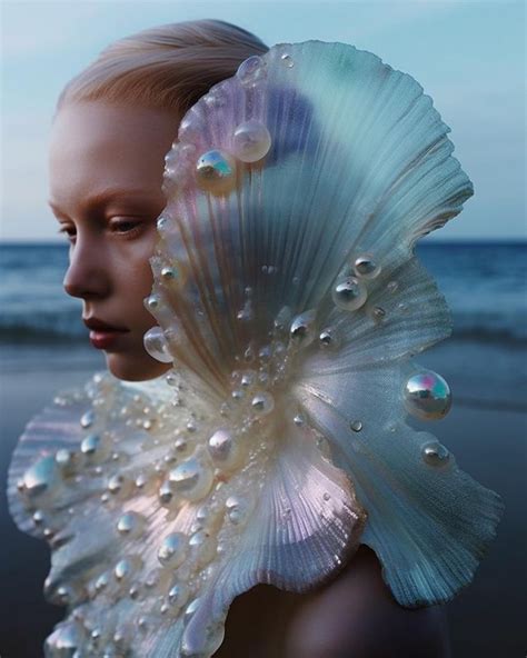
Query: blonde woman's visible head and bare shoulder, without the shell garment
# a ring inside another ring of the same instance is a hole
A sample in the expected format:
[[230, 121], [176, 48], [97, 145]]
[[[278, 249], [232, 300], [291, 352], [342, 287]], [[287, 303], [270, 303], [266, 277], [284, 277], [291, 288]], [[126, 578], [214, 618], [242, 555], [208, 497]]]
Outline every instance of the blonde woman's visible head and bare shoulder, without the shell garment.
[[[150, 353], [143, 348], [143, 335], [156, 326], [155, 307], [147, 310], [143, 299], [152, 288], [156, 220], [167, 203], [163, 156], [185, 112], [249, 56], [266, 50], [252, 34], [220, 21], [146, 30], [108, 48], [59, 99], [50, 206], [70, 241], [64, 289], [82, 299], [90, 340], [123, 381], [156, 379], [171, 368], [168, 359], [150, 356], [159, 356], [162, 346]], [[284, 152], [288, 148], [294, 147]], [[230, 658], [447, 655], [441, 610], [399, 606], [366, 546], [307, 594], [265, 585], [240, 594], [215, 652]]]

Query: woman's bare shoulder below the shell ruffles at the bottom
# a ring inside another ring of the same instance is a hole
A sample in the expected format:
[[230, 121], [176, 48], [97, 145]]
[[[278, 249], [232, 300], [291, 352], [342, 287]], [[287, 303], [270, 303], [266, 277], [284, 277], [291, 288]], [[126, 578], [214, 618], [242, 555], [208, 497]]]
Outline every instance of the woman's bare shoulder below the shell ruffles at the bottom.
[[445, 611], [392, 599], [375, 554], [361, 547], [344, 571], [298, 608], [287, 658], [448, 658]]

